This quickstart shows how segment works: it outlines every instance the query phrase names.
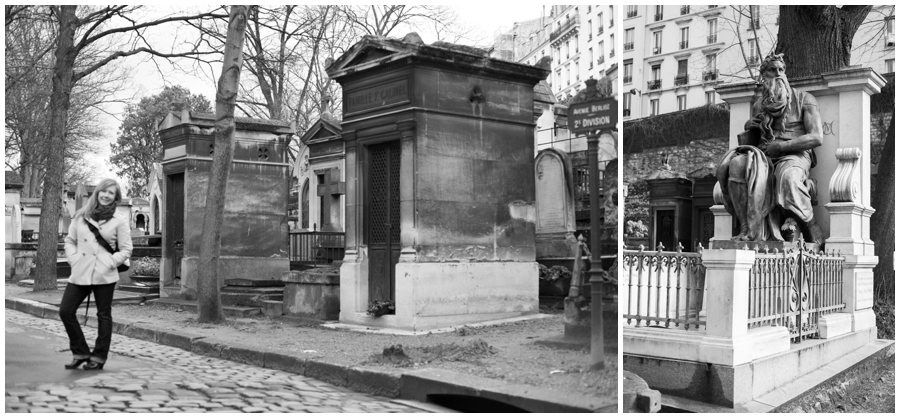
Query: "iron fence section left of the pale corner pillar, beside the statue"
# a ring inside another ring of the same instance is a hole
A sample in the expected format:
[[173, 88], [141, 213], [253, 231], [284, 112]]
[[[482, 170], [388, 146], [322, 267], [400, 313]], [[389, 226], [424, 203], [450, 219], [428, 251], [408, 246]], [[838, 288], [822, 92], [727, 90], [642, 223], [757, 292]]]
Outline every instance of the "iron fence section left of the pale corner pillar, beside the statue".
[[623, 267], [627, 272], [628, 308], [624, 315], [627, 323], [635, 326], [684, 327], [686, 330], [706, 326], [700, 317], [703, 310], [703, 289], [706, 287], [706, 268], [702, 263], [702, 250], [696, 253], [681, 252], [681, 247], [663, 251], [662, 244], [656, 252], [640, 250], [623, 251]]

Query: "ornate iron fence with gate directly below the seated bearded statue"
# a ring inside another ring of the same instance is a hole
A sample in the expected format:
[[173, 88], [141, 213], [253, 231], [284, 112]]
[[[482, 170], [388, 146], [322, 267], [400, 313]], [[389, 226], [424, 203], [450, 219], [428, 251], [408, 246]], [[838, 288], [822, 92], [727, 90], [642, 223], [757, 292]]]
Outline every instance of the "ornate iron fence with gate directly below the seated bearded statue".
[[840, 311], [844, 258], [805, 247], [769, 253], [757, 249], [750, 270], [747, 326], [784, 326], [793, 342], [818, 337], [819, 318]]

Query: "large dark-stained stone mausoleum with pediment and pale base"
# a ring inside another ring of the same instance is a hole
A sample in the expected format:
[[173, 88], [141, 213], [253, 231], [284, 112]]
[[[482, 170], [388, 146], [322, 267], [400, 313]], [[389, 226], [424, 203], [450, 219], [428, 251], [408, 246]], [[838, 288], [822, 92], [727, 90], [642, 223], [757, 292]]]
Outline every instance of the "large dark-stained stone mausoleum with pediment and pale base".
[[[534, 86], [548, 71], [404, 39], [364, 37], [327, 69], [344, 95], [340, 320], [423, 330], [536, 313]], [[375, 301], [395, 313], [367, 315]]]

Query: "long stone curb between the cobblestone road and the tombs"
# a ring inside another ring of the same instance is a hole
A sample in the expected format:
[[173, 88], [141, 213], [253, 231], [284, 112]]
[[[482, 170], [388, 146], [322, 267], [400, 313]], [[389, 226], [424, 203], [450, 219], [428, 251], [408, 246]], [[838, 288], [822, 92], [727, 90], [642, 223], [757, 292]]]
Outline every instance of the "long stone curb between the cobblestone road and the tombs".
[[[42, 302], [20, 298], [6, 298], [6, 308], [39, 318], [59, 320], [59, 308]], [[84, 322], [83, 313], [76, 315], [79, 322]], [[97, 317], [88, 316], [87, 323], [88, 326], [96, 328]], [[396, 402], [401, 402], [401, 399], [410, 400], [413, 403], [416, 403], [416, 401], [428, 402], [425, 389], [431, 387], [435, 388], [434, 390], [439, 393], [480, 394], [515, 404], [532, 412], [616, 412], [617, 407], [614, 399], [611, 405], [598, 407], [590, 402], [579, 401], [577, 397], [559, 398], [555, 395], [561, 392], [549, 388], [535, 388], [496, 379], [463, 375], [456, 372], [423, 369], [400, 373], [377, 370], [365, 366], [346, 366], [320, 360], [306, 360], [289, 354], [226, 344], [217, 341], [215, 338], [198, 337], [184, 332], [139, 325], [127, 320], [114, 320], [113, 333], [180, 348], [201, 356], [215, 357], [236, 363], [299, 374], [357, 392], [392, 398]], [[478, 382], [478, 387], [467, 387], [462, 382]], [[423, 383], [427, 383], [427, 385]], [[561, 403], [559, 402], [560, 399], [566, 399], [570, 402]], [[431, 410], [432, 412], [443, 411], [441, 407], [435, 408], [433, 405], [429, 408], [416, 407], [423, 410]]]

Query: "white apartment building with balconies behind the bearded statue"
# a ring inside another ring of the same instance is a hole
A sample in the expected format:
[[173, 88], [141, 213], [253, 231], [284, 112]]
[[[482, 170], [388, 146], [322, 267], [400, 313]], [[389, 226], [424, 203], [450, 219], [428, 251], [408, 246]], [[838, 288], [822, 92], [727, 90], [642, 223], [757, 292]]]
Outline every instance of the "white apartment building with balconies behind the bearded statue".
[[[778, 5], [625, 6], [625, 120], [721, 100], [715, 87], [755, 79], [778, 35]], [[875, 6], [854, 37], [852, 64], [893, 72], [894, 6]]]

